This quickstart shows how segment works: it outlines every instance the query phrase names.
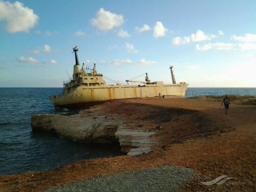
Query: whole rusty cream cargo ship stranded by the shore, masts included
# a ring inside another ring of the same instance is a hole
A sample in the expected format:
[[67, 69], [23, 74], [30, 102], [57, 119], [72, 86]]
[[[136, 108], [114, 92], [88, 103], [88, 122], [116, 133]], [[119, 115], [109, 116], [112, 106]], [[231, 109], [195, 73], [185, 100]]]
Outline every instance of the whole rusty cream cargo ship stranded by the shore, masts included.
[[[106, 102], [124, 101], [142, 98], [184, 98], [188, 84], [176, 84], [170, 66], [173, 84], [164, 84], [162, 81], [151, 82], [146, 73], [145, 81], [126, 80], [127, 85], [106, 85], [103, 74], [97, 73], [96, 65], [93, 68], [80, 68], [77, 46], [73, 48], [76, 64], [73, 76], [63, 83], [62, 94], [49, 96], [55, 108], [81, 109]], [[129, 85], [129, 82], [144, 85]]]

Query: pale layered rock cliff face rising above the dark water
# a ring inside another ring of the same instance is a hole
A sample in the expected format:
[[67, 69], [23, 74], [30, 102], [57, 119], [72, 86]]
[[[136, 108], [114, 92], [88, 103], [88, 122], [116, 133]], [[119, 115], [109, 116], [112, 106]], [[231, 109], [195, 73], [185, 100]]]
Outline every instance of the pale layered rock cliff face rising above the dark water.
[[82, 143], [119, 142], [122, 152], [130, 156], [151, 151], [157, 143], [153, 139], [156, 131], [143, 130], [136, 121], [125, 122], [126, 115], [104, 113], [104, 107], [82, 110], [71, 116], [33, 115], [31, 126], [33, 130], [53, 132]]

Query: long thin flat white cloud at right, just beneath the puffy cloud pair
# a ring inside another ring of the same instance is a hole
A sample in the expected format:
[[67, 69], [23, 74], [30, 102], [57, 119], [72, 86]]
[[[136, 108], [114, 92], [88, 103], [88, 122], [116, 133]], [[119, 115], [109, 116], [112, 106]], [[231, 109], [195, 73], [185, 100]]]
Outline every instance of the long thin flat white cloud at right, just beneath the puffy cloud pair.
[[196, 45], [196, 50], [198, 51], [207, 51], [209, 49], [217, 49], [217, 50], [232, 50], [235, 49], [237, 47], [236, 44], [232, 44], [232, 43], [208, 43], [205, 44], [203, 46], [200, 45]]

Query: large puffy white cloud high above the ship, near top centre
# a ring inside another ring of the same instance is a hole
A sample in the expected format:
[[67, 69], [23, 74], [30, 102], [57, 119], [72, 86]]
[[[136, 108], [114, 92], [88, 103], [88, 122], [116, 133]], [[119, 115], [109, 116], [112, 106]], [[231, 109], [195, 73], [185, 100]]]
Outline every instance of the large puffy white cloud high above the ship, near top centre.
[[124, 23], [123, 15], [117, 15], [101, 8], [96, 17], [91, 19], [91, 24], [101, 30], [111, 30]]

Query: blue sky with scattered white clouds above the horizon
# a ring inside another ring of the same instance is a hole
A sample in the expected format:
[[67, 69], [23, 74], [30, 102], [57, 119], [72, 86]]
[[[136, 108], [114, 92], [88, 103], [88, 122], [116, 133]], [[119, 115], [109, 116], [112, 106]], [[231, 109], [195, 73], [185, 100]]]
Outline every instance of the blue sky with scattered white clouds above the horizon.
[[145, 73], [169, 84], [173, 65], [189, 87], [256, 87], [255, 10], [255, 0], [0, 0], [0, 87], [62, 87], [75, 46], [107, 84]]

